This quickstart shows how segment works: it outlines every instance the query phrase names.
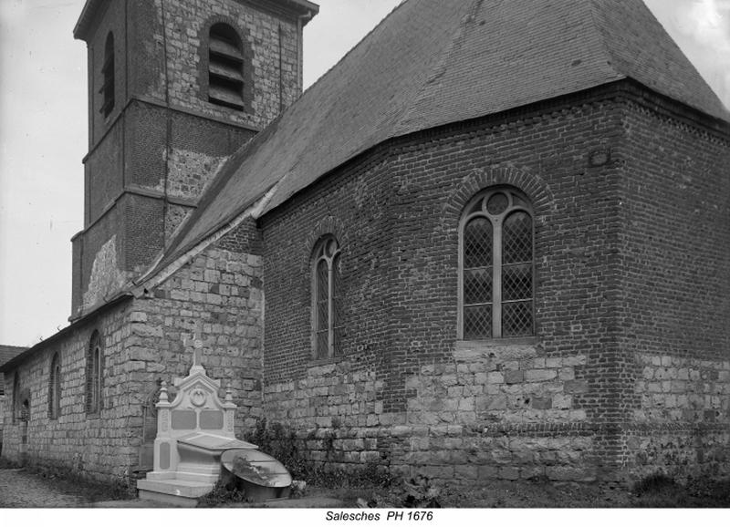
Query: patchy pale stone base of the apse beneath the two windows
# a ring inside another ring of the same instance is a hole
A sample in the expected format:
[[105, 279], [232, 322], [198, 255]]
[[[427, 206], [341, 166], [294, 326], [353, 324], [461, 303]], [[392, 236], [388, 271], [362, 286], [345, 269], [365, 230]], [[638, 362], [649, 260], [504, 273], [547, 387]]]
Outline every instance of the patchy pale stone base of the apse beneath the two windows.
[[383, 412], [374, 367], [340, 359], [265, 387], [270, 422], [293, 430], [310, 460], [367, 463], [435, 480], [594, 480], [595, 430], [573, 399], [585, 356], [546, 357], [533, 345], [458, 344], [453, 362], [406, 379], [405, 412]]

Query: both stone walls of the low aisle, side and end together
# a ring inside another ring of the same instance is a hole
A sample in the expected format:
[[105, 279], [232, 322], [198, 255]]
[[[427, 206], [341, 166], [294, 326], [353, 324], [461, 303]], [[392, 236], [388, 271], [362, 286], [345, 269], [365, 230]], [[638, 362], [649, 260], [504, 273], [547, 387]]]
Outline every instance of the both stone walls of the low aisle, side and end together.
[[[262, 415], [261, 243], [244, 223], [185, 263], [175, 274], [79, 321], [35, 346], [17, 368], [19, 393], [30, 395], [27, 429], [5, 408], [3, 457], [82, 471], [117, 480], [139, 467], [143, 407], [162, 380], [186, 377], [193, 350], [208, 375], [228, 383], [238, 405], [236, 433], [243, 437]], [[91, 335], [103, 354], [102, 408], [86, 412], [86, 363]], [[61, 361], [61, 412], [49, 413], [51, 360]], [[13, 378], [14, 372], [9, 375]], [[13, 398], [9, 390], [9, 398]], [[26, 440], [23, 438], [26, 437]]]

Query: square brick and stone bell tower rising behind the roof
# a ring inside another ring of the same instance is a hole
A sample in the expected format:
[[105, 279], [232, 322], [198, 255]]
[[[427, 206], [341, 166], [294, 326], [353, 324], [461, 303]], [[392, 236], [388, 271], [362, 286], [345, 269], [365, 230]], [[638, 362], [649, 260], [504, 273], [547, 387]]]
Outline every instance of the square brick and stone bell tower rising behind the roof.
[[71, 319], [164, 249], [235, 150], [302, 91], [307, 0], [87, 0], [89, 153]]

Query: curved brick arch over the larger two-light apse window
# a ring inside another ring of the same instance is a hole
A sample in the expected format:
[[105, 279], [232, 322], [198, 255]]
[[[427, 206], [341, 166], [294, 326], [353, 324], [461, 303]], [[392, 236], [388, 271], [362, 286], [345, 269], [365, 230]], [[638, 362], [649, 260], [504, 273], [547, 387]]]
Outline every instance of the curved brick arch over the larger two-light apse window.
[[537, 174], [515, 167], [477, 169], [470, 172], [456, 185], [443, 205], [443, 226], [455, 228], [464, 212], [464, 207], [474, 195], [489, 187], [509, 186], [522, 191], [532, 205], [536, 227], [541, 227], [549, 212], [555, 207], [553, 193], [547, 182]]

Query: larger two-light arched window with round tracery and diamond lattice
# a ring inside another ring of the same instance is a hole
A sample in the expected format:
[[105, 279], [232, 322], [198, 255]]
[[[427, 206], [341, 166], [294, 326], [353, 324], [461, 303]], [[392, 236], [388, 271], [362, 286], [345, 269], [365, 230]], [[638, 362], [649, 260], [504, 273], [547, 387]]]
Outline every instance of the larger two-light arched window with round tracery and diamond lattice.
[[459, 244], [459, 337], [534, 335], [533, 224], [525, 195], [496, 187], [474, 196]]

